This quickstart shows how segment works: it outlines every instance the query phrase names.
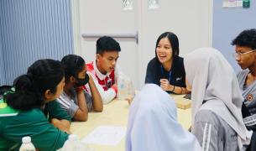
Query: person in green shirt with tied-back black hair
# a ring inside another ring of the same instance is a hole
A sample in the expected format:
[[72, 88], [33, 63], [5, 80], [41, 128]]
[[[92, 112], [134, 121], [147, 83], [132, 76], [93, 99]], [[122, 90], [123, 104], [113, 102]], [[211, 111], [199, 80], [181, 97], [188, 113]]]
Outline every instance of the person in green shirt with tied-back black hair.
[[0, 100], [0, 150], [17, 150], [24, 136], [35, 148], [61, 148], [70, 133], [71, 117], [55, 99], [65, 85], [60, 61], [37, 60]]

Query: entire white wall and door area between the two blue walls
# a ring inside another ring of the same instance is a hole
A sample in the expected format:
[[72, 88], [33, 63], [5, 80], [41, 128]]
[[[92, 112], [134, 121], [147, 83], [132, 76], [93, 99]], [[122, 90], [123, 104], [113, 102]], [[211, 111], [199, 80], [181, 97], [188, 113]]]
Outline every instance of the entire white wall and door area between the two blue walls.
[[[120, 60], [123, 69], [130, 69], [131, 62], [138, 62], [136, 70], [126, 70], [135, 73], [131, 76], [137, 74], [135, 81], [138, 82], [137, 89], [144, 85], [146, 67], [149, 60], [154, 57], [155, 42], [159, 34], [165, 31], [177, 34], [180, 39], [181, 56], [199, 47], [212, 46], [212, 0], [159, 0], [159, 10], [149, 10], [146, 0], [133, 1], [135, 3], [133, 11], [123, 11], [121, 2], [119, 0], [77, 2], [80, 5], [80, 17], [76, 16], [75, 21], [80, 27], [77, 25], [74, 28], [80, 29], [75, 34], [76, 37], [80, 36], [80, 40], [75, 41], [75, 45], [81, 45], [81, 48], [75, 49], [75, 53], [85, 55], [86, 60], [94, 59], [96, 39], [91, 39], [91, 42], [87, 39], [85, 43], [85, 39], [81, 38], [82, 33], [114, 34], [138, 31], [138, 45], [134, 45], [133, 40], [118, 39], [121, 41], [121, 47], [133, 45], [130, 52], [124, 50], [125, 53], [120, 56]], [[89, 27], [88, 24], [92, 26]], [[128, 57], [128, 53], [133, 53], [133, 57]]]

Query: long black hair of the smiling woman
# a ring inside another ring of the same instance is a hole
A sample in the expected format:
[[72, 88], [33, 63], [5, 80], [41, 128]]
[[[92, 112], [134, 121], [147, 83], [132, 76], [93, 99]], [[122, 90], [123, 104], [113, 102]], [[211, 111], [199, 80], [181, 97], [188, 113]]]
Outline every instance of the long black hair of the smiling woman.
[[156, 57], [157, 60], [158, 60], [158, 58], [157, 58], [157, 55], [156, 55], [156, 48], [157, 48], [157, 45], [159, 44], [159, 41], [161, 39], [164, 39], [164, 38], [169, 39], [171, 49], [173, 51], [173, 55], [179, 55], [179, 53], [180, 53], [179, 39], [176, 36], [176, 34], [171, 33], [171, 32], [165, 32], [165, 33], [159, 35], [159, 38], [156, 40], [154, 52], [155, 52], [155, 57]]

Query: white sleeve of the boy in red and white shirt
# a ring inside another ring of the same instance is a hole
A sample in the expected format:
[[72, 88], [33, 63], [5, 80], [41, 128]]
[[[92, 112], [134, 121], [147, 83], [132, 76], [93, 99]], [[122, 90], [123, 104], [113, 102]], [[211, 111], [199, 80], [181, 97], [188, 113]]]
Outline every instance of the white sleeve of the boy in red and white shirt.
[[[100, 95], [102, 96], [103, 104], [107, 104], [108, 102], [111, 102], [116, 96], [116, 91], [114, 91], [112, 88], [109, 88], [107, 91], [104, 91], [102, 86], [97, 81], [97, 77], [94, 74], [92, 74], [90, 71], [87, 71], [87, 74], [89, 74], [92, 77], [92, 79], [95, 83], [95, 86], [97, 87], [97, 90], [99, 91]], [[86, 84], [86, 90], [91, 95], [91, 89], [89, 87], [89, 84]]]

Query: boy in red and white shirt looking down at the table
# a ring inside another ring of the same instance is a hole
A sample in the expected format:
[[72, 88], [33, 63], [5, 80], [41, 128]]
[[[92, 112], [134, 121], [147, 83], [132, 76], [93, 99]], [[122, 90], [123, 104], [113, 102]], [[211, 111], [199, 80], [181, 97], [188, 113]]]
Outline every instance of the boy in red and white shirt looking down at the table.
[[[118, 93], [117, 81], [121, 70], [117, 61], [120, 51], [120, 45], [115, 39], [103, 36], [97, 39], [96, 60], [86, 64], [87, 73], [96, 84], [104, 104], [111, 102]], [[85, 88], [91, 94], [87, 85]]]

